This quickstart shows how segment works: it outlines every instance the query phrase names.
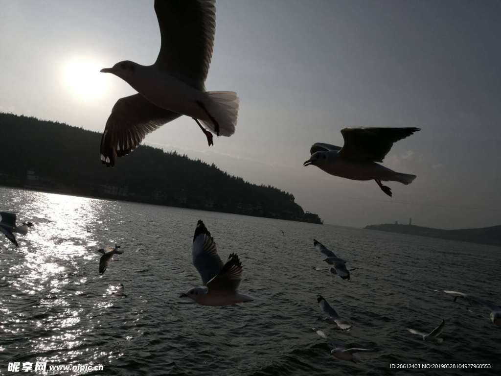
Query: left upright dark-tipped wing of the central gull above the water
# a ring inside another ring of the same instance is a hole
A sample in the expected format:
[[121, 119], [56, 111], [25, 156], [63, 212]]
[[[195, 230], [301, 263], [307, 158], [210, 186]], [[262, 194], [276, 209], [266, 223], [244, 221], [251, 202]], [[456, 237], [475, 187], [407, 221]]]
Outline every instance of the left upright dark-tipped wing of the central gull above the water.
[[195, 266], [203, 285], [207, 285], [223, 268], [224, 264], [217, 254], [216, 244], [210, 236], [202, 221], [198, 221], [195, 235], [193, 236], [193, 248], [191, 251], [193, 265]]

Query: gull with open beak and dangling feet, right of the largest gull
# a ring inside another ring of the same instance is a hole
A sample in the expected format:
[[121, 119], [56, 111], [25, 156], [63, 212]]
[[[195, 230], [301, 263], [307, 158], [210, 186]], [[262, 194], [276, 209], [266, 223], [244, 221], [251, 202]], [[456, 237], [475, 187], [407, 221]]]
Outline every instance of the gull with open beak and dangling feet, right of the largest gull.
[[313, 164], [331, 175], [353, 180], [374, 179], [381, 190], [391, 197], [390, 187], [381, 181], [410, 184], [416, 175], [395, 172], [375, 162], [382, 162], [391, 146], [419, 128], [344, 128], [343, 147], [317, 142], [310, 148], [311, 157], [305, 166]]

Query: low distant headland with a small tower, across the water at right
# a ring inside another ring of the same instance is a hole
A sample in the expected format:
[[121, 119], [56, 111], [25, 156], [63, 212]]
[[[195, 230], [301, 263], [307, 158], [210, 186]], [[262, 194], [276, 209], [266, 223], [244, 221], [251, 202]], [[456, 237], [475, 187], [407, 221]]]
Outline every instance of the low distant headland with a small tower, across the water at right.
[[414, 225], [383, 224], [365, 226], [368, 230], [390, 233], [427, 236], [462, 242], [501, 246], [501, 226], [483, 227], [479, 229], [441, 230]]

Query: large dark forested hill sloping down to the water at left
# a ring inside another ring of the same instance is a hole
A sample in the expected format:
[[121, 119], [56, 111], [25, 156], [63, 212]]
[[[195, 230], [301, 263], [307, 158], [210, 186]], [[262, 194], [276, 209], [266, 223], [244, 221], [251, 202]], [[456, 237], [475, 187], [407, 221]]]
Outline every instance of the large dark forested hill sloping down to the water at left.
[[251, 184], [175, 152], [140, 146], [107, 168], [99, 159], [100, 141], [97, 132], [0, 113], [0, 184], [321, 223], [290, 193]]

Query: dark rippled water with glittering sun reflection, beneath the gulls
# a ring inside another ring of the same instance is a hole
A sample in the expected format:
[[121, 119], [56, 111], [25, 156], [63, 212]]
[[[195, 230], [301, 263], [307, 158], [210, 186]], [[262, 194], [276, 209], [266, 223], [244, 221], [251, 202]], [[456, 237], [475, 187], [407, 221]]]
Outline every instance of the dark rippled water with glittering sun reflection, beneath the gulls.
[[[501, 329], [489, 312], [433, 289], [501, 303], [496, 247], [0, 188], [2, 210], [35, 223], [15, 249], [0, 238], [0, 373], [11, 361], [103, 364], [110, 375], [499, 374]], [[202, 219], [226, 259], [244, 268], [255, 301], [205, 307], [178, 298], [199, 285], [191, 241]], [[284, 230], [286, 236], [280, 230]], [[348, 260], [351, 281], [323, 265], [317, 238]], [[98, 246], [123, 255], [98, 274]], [[113, 291], [125, 285], [127, 296]], [[353, 329], [321, 320], [321, 293]], [[424, 342], [446, 320], [444, 342]], [[361, 363], [335, 360], [324, 330], [350, 346], [377, 348]], [[391, 363], [485, 363], [490, 370], [392, 371]], [[47, 374], [50, 372], [46, 372]], [[78, 374], [53, 372], [52, 374]], [[44, 374], [22, 372], [22, 374]]]

